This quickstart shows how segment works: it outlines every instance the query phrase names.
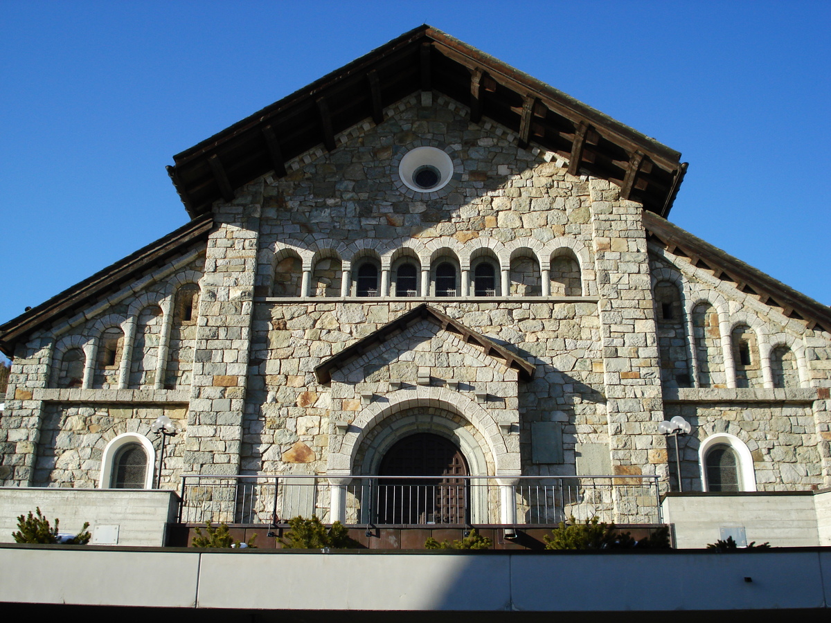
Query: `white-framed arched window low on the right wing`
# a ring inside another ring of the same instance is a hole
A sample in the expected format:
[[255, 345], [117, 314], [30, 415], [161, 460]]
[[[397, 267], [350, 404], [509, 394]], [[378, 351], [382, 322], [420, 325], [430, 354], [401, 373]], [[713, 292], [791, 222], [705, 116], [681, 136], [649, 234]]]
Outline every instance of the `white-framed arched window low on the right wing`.
[[699, 449], [705, 491], [755, 491], [753, 455], [734, 434], [711, 435]]

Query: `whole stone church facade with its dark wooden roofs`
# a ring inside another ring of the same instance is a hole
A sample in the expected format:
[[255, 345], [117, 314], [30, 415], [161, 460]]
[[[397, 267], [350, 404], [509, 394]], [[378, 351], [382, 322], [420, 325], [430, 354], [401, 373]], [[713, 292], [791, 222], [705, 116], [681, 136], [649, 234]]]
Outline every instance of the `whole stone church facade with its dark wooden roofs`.
[[430, 434], [471, 475], [669, 490], [681, 415], [686, 490], [829, 486], [831, 313], [666, 221], [679, 160], [406, 33], [177, 156], [190, 223], [0, 326], [2, 483], [117, 486], [134, 446], [148, 487], [346, 481]]

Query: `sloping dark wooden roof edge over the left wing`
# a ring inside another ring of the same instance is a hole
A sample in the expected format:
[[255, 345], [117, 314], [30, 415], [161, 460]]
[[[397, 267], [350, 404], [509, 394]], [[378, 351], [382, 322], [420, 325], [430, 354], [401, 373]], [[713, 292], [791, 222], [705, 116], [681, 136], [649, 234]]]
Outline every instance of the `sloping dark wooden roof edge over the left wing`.
[[0, 325], [0, 351], [11, 357], [14, 346], [25, 336], [47, 324], [76, 316], [92, 302], [105, 299], [142, 275], [164, 266], [188, 248], [208, 238], [214, 218], [204, 214], [140, 248], [115, 264], [96, 272], [91, 277], [64, 290], [17, 318]]

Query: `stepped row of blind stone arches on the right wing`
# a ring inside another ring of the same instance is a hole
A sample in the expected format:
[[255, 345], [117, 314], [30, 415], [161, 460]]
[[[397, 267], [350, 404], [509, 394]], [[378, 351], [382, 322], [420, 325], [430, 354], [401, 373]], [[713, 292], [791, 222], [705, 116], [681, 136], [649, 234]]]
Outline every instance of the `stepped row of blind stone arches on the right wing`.
[[803, 385], [800, 366], [806, 363], [795, 338], [768, 336], [758, 320], [727, 316], [703, 298], [686, 306], [683, 289], [671, 279], [656, 282], [653, 297], [665, 387]]

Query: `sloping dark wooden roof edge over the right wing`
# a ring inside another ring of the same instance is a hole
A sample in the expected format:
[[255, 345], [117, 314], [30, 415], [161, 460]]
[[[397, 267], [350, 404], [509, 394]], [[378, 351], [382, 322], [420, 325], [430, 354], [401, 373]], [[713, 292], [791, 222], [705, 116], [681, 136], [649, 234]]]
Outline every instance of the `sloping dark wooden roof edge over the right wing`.
[[784, 316], [806, 321], [809, 329], [831, 332], [831, 307], [806, 297], [655, 214], [644, 212], [643, 224], [650, 243], [686, 258], [693, 266], [711, 271], [722, 281], [732, 282], [740, 292], [755, 295], [760, 302], [779, 307]]

